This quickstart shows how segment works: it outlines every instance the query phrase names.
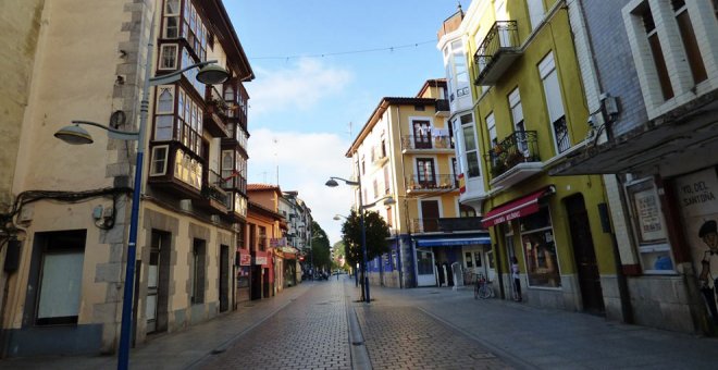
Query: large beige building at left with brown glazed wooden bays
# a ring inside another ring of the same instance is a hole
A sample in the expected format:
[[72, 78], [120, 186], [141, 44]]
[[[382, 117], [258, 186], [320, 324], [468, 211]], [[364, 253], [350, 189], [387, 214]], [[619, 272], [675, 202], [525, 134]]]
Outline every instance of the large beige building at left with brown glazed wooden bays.
[[139, 345], [150, 333], [231, 310], [247, 208], [243, 84], [253, 74], [222, 2], [11, 1], [0, 16], [11, 29], [0, 35], [3, 52], [14, 50], [3, 54], [11, 69], [2, 70], [15, 75], [3, 75], [13, 83], [0, 87], [11, 113], [0, 125], [2, 168], [11, 171], [0, 185], [0, 243], [9, 246], [3, 355], [117, 349], [141, 156], [136, 140], [109, 138], [98, 127], [84, 126], [94, 143], [83, 146], [53, 133], [73, 120], [137, 131], [147, 77], [212, 59], [231, 74], [223, 84], [201, 85], [191, 69], [149, 89], [140, 143], [147, 156], [135, 189], [134, 301], [126, 307]]

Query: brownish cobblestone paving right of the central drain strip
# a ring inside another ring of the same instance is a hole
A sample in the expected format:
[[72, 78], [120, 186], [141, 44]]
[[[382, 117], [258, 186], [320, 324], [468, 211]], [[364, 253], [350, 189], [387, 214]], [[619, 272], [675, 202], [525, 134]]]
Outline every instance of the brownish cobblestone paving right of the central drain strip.
[[414, 307], [356, 308], [374, 369], [510, 369], [468, 336]]

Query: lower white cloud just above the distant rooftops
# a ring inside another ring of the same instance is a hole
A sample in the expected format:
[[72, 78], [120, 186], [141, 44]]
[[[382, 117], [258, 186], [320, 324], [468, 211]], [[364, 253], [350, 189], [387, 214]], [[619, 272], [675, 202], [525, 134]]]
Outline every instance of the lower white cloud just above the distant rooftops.
[[348, 147], [347, 139], [331, 133], [257, 128], [249, 139], [249, 183], [276, 184], [278, 165], [282, 190], [299, 192], [299, 198], [334, 244], [339, 240], [342, 222], [333, 218], [349, 212], [351, 188], [344, 184], [331, 188], [324, 183], [330, 176], [351, 175], [351, 162], [344, 157]]

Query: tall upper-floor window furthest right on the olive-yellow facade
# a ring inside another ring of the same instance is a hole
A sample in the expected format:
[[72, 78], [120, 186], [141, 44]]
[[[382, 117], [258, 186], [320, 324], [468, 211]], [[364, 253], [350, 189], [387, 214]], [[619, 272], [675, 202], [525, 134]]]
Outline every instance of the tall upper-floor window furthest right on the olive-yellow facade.
[[538, 63], [538, 73], [544, 85], [544, 95], [546, 96], [546, 107], [548, 108], [548, 119], [550, 121], [552, 133], [554, 134], [556, 152], [562, 153], [571, 147], [571, 140], [566, 123], [561, 88], [558, 82], [558, 74], [556, 73], [553, 52], [548, 53]]

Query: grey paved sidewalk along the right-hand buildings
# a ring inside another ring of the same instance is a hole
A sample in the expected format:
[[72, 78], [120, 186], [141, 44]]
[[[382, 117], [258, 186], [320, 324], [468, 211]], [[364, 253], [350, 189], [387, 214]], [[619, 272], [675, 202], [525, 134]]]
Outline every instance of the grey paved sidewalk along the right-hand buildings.
[[718, 368], [718, 338], [496, 298], [475, 300], [471, 289], [372, 286], [371, 292], [372, 305], [417, 306], [516, 368]]

